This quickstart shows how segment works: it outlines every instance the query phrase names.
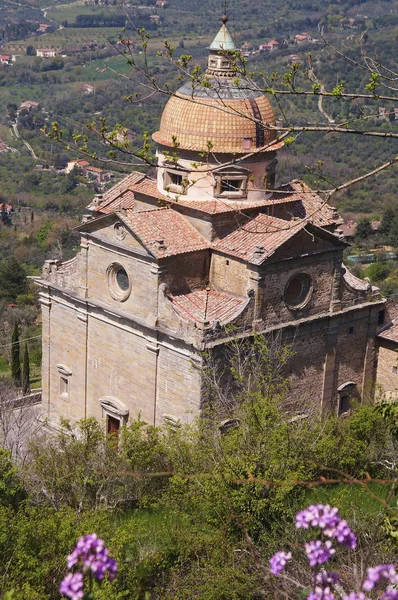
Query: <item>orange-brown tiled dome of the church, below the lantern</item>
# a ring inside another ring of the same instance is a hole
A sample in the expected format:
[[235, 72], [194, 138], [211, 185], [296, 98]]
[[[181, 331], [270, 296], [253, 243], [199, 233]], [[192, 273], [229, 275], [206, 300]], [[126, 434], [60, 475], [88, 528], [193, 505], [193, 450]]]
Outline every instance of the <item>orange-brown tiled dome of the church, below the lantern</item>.
[[239, 85], [233, 79], [211, 84], [185, 83], [170, 98], [153, 134], [158, 144], [173, 147], [175, 137], [179, 148], [200, 152], [211, 141], [212, 152], [244, 154], [276, 138], [263, 126], [274, 125], [275, 116], [261, 92], [248, 89], [242, 80]]

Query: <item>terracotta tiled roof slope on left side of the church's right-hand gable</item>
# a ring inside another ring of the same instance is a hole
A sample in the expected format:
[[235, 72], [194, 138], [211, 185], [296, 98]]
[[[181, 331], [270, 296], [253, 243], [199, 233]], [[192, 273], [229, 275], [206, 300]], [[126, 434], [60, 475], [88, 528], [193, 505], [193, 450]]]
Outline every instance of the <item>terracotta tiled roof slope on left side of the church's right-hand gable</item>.
[[284, 221], [260, 214], [213, 247], [250, 263], [261, 264], [305, 225], [305, 221]]

